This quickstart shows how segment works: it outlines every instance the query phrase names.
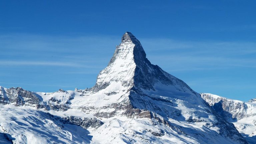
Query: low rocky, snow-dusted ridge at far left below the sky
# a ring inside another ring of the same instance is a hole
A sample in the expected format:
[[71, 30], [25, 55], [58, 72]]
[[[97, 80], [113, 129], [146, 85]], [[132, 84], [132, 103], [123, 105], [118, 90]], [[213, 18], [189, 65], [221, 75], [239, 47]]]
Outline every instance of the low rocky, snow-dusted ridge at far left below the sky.
[[[51, 97], [48, 100], [43, 100], [42, 96], [37, 93], [27, 91], [21, 87], [3, 88], [0, 87], [0, 103], [14, 104], [15, 106], [32, 106], [38, 109], [66, 111], [70, 107], [71, 100], [74, 99], [74, 94], [68, 94], [67, 91], [60, 89], [57, 92], [45, 93], [45, 96]], [[55, 97], [54, 95], [57, 95]]]

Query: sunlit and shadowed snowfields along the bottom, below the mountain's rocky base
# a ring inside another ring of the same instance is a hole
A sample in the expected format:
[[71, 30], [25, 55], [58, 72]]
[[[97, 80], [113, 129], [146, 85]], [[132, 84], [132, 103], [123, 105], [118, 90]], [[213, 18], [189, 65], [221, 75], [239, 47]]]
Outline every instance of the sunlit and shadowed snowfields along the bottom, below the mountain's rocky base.
[[[112, 144], [112, 143], [154, 143], [154, 144], [218, 144], [232, 141], [218, 137], [212, 137], [208, 129], [202, 124], [187, 124], [186, 122], [175, 122], [188, 130], [188, 135], [181, 134], [177, 130], [164, 125], [152, 125], [152, 121], [146, 118], [131, 119], [127, 117], [112, 117], [104, 120], [104, 124], [98, 129], [83, 129], [76, 125], [64, 124], [54, 120], [48, 113], [33, 107], [16, 107], [12, 104], [0, 105], [0, 133], [10, 135], [13, 143], [27, 144]], [[189, 136], [194, 132], [204, 134], [206, 139], [200, 140]], [[163, 136], [155, 136], [152, 133], [163, 133]], [[8, 141], [6, 141], [8, 142]]]

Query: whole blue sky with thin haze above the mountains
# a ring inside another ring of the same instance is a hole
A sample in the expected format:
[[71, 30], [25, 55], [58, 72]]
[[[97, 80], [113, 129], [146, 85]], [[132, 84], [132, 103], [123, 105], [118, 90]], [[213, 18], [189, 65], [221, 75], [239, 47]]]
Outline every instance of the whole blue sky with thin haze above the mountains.
[[0, 85], [91, 87], [124, 32], [201, 93], [256, 97], [256, 1], [0, 1]]

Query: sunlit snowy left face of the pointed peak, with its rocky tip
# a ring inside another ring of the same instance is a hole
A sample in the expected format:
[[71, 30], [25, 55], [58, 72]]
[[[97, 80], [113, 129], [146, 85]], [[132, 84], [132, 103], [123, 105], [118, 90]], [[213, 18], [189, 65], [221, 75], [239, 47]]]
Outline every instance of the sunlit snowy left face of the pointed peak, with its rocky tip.
[[[115, 50], [108, 66], [97, 76], [93, 91], [99, 91], [110, 85], [111, 82], [120, 82], [124, 87], [133, 86], [133, 76], [136, 68], [134, 55], [146, 55], [139, 41], [129, 32], [126, 32]], [[140, 55], [140, 54], [139, 54]]]

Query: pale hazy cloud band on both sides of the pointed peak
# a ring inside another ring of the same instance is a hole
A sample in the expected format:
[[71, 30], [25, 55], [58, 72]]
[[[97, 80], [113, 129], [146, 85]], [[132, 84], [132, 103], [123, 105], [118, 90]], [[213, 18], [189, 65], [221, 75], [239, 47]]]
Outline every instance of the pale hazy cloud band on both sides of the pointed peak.
[[[104, 68], [111, 58], [114, 36], [0, 35], [0, 65]], [[181, 41], [141, 38], [147, 57], [167, 71], [198, 71], [256, 67], [256, 43], [246, 41]], [[85, 71], [85, 70], [80, 70]], [[95, 73], [90, 69], [87, 72]], [[68, 73], [68, 72], [67, 72]], [[72, 72], [70, 72], [72, 73]]]

